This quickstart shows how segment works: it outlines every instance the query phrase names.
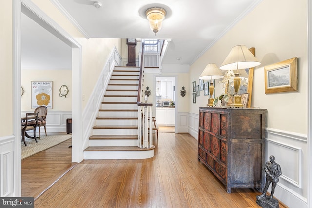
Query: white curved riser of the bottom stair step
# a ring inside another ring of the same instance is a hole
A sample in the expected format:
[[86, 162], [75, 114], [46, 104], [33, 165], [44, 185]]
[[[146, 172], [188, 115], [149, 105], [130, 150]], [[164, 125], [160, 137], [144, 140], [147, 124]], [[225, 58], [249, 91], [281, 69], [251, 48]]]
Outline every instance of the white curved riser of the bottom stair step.
[[147, 159], [154, 157], [154, 149], [146, 151], [85, 151], [86, 160]]

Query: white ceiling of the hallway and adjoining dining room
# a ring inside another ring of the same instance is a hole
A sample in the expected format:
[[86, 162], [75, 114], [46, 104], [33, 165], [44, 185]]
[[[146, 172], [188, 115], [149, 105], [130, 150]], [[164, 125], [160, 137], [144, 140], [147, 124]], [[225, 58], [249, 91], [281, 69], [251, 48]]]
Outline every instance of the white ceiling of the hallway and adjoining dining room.
[[[86, 38], [171, 39], [163, 64], [192, 64], [262, 0], [157, 0], [157, 3], [155, 0], [98, 0], [102, 3], [101, 8], [94, 7], [91, 0], [50, 1], [75, 19], [76, 26]], [[147, 8], [154, 6], [167, 10], [162, 29], [156, 36], [144, 15]], [[54, 39], [56, 42], [60, 40], [42, 31], [37, 32], [40, 31], [39, 26], [28, 26], [30, 23], [29, 19], [22, 21], [22, 51], [25, 52], [22, 53], [22, 63], [25, 66], [43, 61], [44, 57], [70, 57], [67, 54], [70, 48], [66, 44], [55, 43]], [[42, 51], [44, 48], [48, 49], [45, 53]], [[59, 64], [55, 68], [66, 68], [70, 63], [62, 60], [52, 62]], [[61, 64], [65, 64], [64, 67]]]

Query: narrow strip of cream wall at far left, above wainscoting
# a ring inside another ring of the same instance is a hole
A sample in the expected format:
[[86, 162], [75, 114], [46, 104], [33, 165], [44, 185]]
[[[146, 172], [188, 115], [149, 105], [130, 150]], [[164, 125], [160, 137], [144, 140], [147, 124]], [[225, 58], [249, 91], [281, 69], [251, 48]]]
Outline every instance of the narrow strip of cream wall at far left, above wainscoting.
[[[12, 2], [0, 6], [0, 137], [13, 134]], [[4, 119], [3, 119], [4, 118]]]

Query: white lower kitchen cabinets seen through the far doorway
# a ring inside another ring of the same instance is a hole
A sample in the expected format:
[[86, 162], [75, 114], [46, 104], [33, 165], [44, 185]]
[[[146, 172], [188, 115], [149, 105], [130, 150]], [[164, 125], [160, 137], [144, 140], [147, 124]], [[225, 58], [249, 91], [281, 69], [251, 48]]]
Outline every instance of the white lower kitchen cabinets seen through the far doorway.
[[155, 119], [158, 126], [175, 126], [175, 108], [156, 108]]

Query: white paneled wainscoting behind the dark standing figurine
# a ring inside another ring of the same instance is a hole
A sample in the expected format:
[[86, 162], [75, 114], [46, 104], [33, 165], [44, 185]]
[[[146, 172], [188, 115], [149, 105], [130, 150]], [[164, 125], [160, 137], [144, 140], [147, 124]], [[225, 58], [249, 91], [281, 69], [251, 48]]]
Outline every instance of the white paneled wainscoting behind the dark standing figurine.
[[275, 156], [275, 161], [282, 170], [274, 197], [288, 207], [307, 208], [307, 135], [267, 128], [266, 161], [269, 161], [270, 155]]

